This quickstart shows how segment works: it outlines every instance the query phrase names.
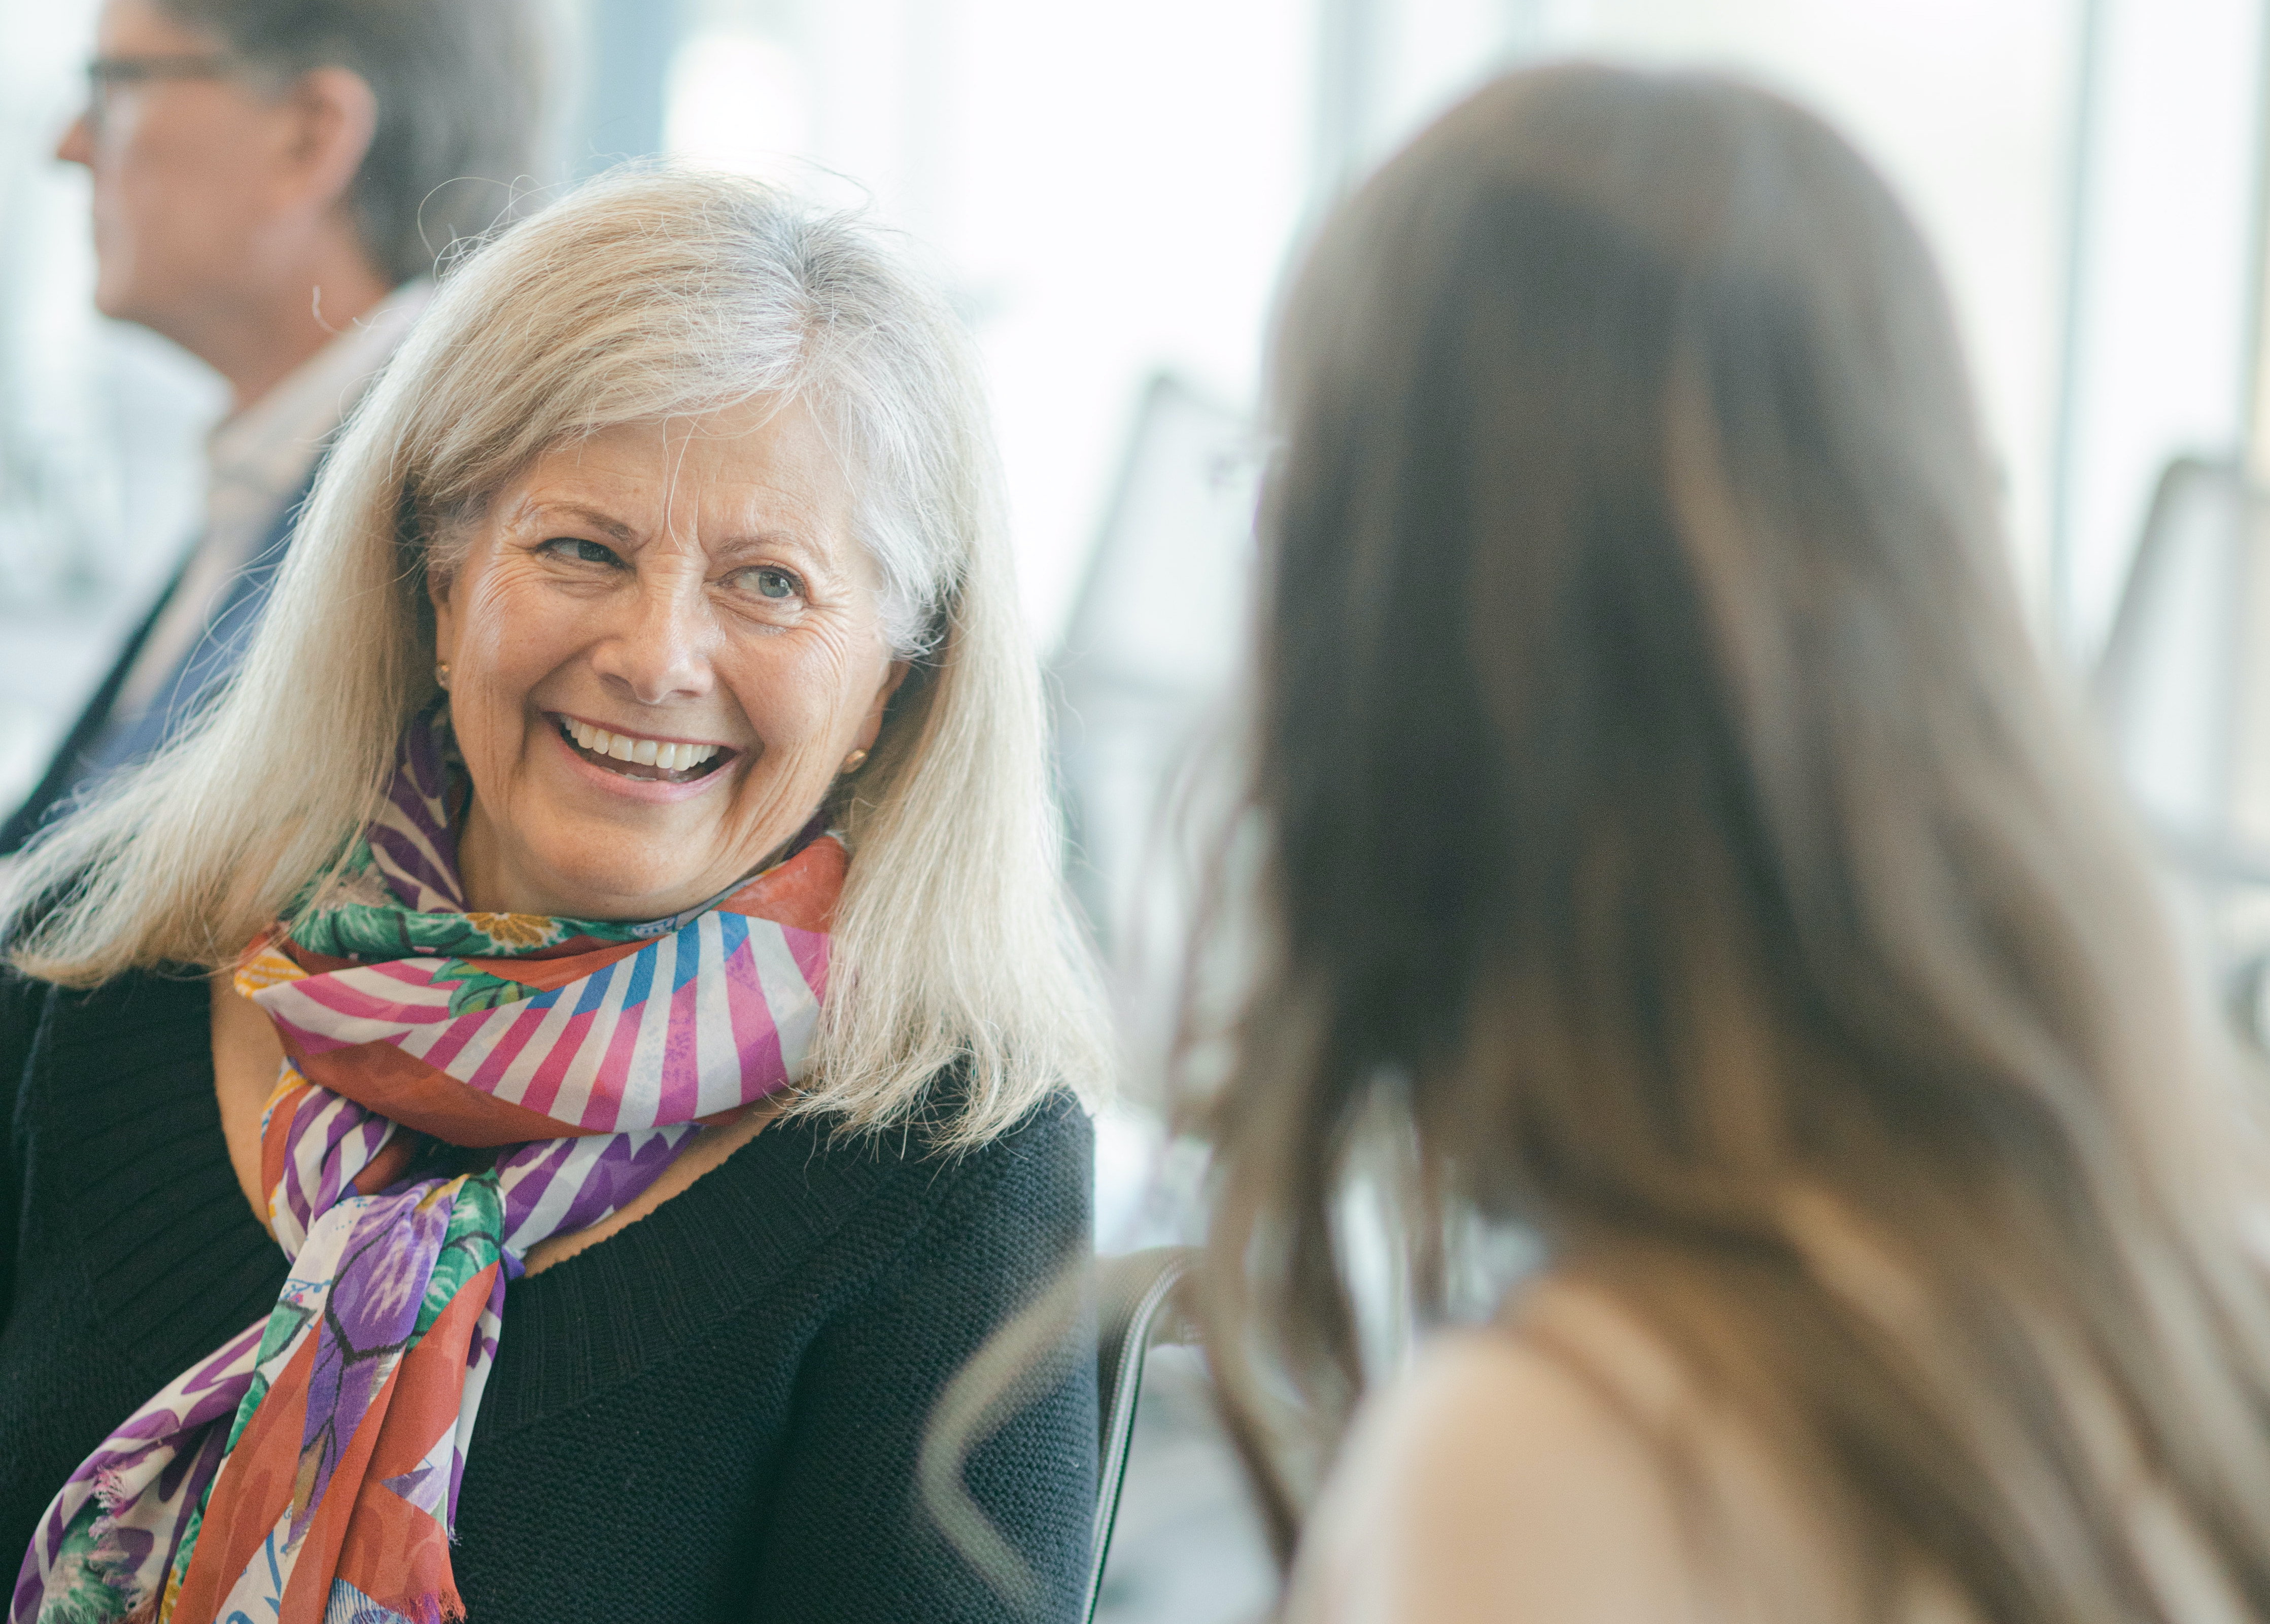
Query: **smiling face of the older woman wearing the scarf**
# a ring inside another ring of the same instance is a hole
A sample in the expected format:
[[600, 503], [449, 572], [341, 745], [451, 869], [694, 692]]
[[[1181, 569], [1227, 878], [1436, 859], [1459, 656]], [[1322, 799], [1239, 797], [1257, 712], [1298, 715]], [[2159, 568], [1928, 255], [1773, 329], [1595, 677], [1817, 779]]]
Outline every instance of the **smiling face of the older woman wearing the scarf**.
[[706, 902], [810, 820], [903, 675], [851, 491], [801, 407], [540, 457], [431, 593], [481, 911]]

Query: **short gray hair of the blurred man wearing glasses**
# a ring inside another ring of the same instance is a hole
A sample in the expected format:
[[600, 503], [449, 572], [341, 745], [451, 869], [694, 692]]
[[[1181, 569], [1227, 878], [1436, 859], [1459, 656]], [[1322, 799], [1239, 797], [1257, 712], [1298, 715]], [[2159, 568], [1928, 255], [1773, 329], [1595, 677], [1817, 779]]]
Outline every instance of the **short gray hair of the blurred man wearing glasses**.
[[354, 177], [363, 248], [390, 282], [481, 236], [540, 173], [549, 41], [538, 0], [159, 0], [263, 79], [347, 68], [379, 125]]

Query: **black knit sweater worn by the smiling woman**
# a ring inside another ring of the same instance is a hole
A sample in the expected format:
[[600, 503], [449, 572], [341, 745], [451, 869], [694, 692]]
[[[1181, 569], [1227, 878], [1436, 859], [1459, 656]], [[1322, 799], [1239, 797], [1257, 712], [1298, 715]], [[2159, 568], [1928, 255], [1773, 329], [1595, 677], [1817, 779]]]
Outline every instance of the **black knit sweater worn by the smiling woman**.
[[[202, 981], [0, 974], [0, 1588], [70, 1470], [263, 1317], [284, 1254], [229, 1172]], [[1087, 1240], [1090, 1129], [983, 1149], [774, 1124], [683, 1195], [506, 1292], [459, 1499], [470, 1624], [1001, 1619], [915, 1504], [931, 1408]], [[1062, 1365], [1058, 1365], [1062, 1367]], [[1071, 1361], [969, 1460], [1074, 1617], [1096, 1472]]]

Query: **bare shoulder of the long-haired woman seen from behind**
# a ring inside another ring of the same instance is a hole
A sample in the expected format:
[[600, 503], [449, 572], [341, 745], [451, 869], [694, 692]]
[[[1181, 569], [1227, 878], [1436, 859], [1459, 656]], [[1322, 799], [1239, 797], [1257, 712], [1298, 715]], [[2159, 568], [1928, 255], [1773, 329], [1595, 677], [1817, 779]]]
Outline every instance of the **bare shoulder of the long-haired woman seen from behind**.
[[1360, 1420], [1294, 1617], [1684, 1624], [1691, 1579], [1630, 1406], [1516, 1324], [1441, 1338]]

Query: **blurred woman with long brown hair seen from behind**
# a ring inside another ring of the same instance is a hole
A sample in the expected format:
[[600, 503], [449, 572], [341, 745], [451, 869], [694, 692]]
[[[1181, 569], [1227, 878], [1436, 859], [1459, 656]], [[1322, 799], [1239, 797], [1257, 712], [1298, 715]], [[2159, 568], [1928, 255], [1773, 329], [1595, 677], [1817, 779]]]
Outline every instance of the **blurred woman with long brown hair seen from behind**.
[[1294, 1615], [2270, 1617], [2252, 1122], [1884, 182], [1510, 77], [1332, 220], [1276, 388], [1205, 1313], [1287, 1545], [1351, 1158], [1437, 1304], [1460, 1224], [1546, 1245], [1339, 1447]]

